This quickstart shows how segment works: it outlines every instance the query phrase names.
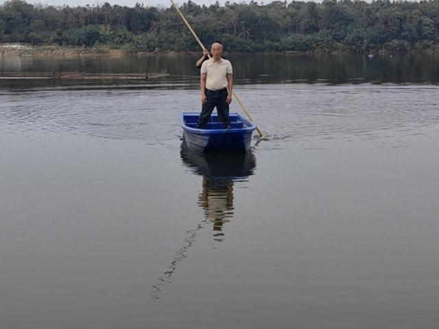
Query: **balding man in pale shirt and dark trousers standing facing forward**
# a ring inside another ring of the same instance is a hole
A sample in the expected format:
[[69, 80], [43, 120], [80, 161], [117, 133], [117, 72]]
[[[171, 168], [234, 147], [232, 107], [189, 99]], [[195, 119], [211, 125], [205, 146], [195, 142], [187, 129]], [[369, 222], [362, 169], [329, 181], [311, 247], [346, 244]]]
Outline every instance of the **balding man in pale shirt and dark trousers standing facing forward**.
[[202, 110], [198, 118], [198, 128], [206, 126], [213, 108], [216, 107], [218, 117], [224, 123], [224, 128], [230, 129], [228, 106], [232, 102], [233, 69], [228, 60], [221, 58], [222, 51], [222, 45], [215, 42], [211, 47], [212, 58], [206, 60], [201, 66]]

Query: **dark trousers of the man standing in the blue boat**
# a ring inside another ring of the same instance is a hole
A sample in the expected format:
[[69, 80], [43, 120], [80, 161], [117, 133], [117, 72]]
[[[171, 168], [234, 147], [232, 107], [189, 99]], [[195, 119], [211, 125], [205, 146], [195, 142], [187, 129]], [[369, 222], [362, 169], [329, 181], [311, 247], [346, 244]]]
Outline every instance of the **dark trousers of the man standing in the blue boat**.
[[221, 89], [217, 91], [206, 89], [207, 102], [203, 104], [200, 117], [198, 117], [197, 128], [206, 127], [209, 118], [213, 112], [213, 108], [217, 108], [218, 119], [224, 123], [224, 127], [230, 125], [230, 118], [228, 117], [228, 104], [227, 104], [227, 89]]

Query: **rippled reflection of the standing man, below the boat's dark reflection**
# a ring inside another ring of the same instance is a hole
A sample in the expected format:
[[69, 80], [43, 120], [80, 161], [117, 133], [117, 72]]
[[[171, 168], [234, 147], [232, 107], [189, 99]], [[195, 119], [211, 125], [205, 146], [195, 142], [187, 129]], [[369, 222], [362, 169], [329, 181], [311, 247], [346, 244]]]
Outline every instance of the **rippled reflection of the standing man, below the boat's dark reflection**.
[[198, 205], [204, 209], [206, 219], [213, 222], [215, 241], [223, 241], [222, 227], [228, 218], [233, 217], [233, 180], [204, 176]]

